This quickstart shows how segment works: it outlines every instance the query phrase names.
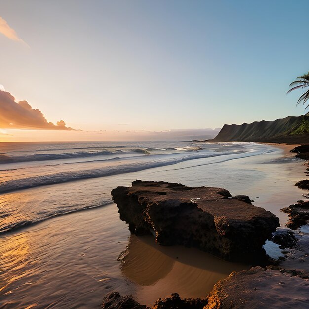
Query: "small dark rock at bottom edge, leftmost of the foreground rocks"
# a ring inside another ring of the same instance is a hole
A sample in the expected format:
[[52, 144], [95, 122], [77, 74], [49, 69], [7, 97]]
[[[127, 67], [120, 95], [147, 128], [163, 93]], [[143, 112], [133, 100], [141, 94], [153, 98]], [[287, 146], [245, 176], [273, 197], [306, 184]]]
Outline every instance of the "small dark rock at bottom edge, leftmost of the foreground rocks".
[[101, 305], [102, 309], [146, 309], [140, 305], [132, 295], [121, 296], [118, 292], [107, 294]]

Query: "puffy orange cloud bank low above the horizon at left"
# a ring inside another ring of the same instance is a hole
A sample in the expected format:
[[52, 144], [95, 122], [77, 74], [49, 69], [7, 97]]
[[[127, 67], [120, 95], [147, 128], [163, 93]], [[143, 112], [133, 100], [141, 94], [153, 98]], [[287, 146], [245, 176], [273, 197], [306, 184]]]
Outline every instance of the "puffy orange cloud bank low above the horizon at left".
[[42, 112], [33, 109], [27, 101], [16, 102], [6, 91], [0, 91], [0, 128], [33, 130], [74, 130], [66, 126], [63, 120], [47, 122]]

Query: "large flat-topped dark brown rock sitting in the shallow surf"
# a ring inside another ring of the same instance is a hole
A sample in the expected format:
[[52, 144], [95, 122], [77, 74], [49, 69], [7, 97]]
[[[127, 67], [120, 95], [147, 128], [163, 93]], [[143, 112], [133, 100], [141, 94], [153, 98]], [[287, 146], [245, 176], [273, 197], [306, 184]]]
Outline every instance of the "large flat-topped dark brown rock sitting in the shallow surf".
[[132, 233], [152, 233], [161, 245], [193, 246], [225, 260], [263, 263], [262, 245], [279, 226], [274, 214], [222, 188], [137, 180], [112, 196]]

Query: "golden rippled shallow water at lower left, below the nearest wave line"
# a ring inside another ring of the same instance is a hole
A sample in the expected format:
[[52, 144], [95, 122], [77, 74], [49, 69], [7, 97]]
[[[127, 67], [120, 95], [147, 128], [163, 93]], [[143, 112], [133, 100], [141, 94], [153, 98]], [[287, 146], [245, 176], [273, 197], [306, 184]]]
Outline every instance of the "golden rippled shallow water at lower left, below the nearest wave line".
[[0, 236], [0, 308], [99, 308], [112, 289], [128, 294], [117, 257], [129, 232], [116, 209], [77, 212]]

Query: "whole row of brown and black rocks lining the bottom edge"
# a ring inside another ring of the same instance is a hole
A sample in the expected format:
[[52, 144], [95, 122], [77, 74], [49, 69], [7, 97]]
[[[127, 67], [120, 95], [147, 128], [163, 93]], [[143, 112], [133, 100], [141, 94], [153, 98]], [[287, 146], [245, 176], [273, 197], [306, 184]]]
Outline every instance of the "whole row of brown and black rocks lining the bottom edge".
[[[259, 266], [232, 272], [220, 280], [205, 299], [181, 299], [177, 293], [159, 299], [153, 306], [140, 305], [132, 295], [105, 296], [102, 309], [231, 309], [231, 308], [300, 308], [309, 303], [309, 280]], [[129, 306], [129, 307], [125, 307]]]

